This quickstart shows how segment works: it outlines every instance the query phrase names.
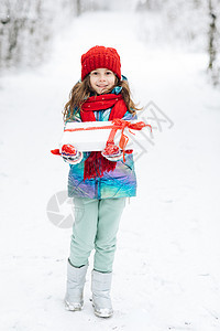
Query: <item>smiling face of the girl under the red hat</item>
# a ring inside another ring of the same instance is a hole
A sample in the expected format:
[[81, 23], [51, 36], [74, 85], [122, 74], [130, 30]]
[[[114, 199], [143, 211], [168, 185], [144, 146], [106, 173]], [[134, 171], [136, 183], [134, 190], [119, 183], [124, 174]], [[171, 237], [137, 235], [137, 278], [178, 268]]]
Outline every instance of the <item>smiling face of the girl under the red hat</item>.
[[99, 67], [90, 72], [90, 85], [97, 94], [111, 89], [116, 84], [116, 75], [108, 68]]

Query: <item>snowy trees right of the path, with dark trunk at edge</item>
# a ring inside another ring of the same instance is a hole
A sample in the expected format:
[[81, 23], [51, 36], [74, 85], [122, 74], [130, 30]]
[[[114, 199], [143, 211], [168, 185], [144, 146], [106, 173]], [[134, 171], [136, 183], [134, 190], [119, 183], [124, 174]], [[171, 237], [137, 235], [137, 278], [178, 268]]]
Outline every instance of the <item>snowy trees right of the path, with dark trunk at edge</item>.
[[178, 43], [194, 52], [207, 52], [209, 75], [212, 83], [218, 84], [220, 0], [139, 0], [136, 10], [142, 40], [157, 44]]

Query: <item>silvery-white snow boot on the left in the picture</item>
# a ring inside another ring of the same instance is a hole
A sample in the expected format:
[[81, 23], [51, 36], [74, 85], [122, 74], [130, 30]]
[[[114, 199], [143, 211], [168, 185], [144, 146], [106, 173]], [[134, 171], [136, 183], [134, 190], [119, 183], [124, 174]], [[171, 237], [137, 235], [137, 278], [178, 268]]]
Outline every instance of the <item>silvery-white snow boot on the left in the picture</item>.
[[66, 296], [64, 299], [67, 310], [76, 311], [82, 309], [87, 268], [88, 265], [76, 268], [68, 260]]

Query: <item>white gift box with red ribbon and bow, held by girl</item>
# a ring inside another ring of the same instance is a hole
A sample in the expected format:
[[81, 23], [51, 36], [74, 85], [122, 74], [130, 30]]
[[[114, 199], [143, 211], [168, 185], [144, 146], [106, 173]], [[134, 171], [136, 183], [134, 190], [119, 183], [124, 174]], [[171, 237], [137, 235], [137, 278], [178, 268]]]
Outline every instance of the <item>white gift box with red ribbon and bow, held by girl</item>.
[[67, 122], [59, 143], [73, 145], [78, 151], [101, 151], [108, 143], [123, 150], [142, 149], [151, 126], [138, 120]]

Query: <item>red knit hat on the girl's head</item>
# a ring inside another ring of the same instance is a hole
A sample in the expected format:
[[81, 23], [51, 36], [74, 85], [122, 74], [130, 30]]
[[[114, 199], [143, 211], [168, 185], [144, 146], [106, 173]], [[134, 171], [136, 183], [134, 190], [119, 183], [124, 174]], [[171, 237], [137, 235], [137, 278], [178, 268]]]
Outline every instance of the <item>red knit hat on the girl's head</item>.
[[117, 50], [95, 46], [81, 55], [81, 81], [96, 68], [106, 67], [121, 79], [121, 62]]

